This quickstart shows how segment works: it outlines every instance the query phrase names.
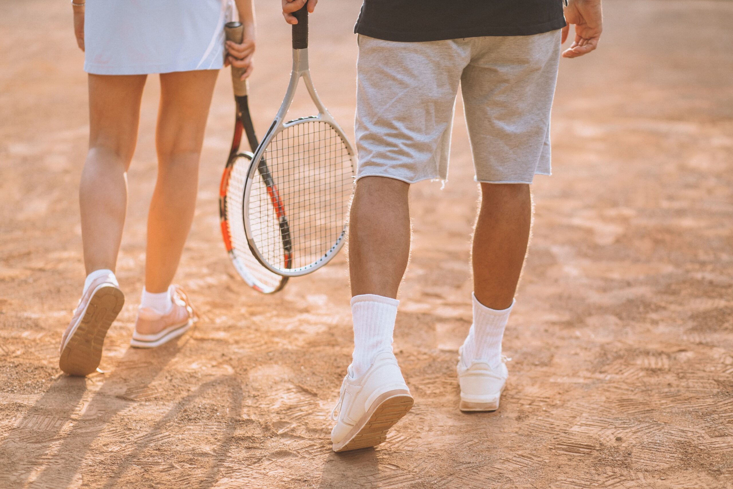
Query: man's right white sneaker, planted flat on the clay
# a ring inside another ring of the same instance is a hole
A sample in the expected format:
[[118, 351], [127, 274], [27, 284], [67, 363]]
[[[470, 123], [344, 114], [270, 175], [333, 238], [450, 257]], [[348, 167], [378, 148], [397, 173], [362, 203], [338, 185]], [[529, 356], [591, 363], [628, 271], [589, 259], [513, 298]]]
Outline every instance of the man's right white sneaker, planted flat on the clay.
[[496, 411], [504, 386], [507, 385], [507, 357], [501, 356], [501, 364], [491, 368], [487, 361], [474, 360], [463, 365], [463, 348], [458, 350], [458, 383], [460, 384], [461, 411]]

